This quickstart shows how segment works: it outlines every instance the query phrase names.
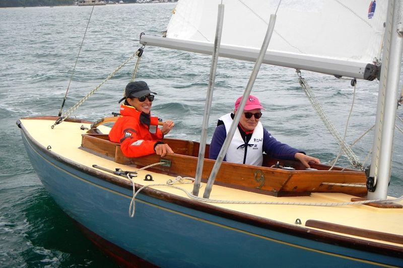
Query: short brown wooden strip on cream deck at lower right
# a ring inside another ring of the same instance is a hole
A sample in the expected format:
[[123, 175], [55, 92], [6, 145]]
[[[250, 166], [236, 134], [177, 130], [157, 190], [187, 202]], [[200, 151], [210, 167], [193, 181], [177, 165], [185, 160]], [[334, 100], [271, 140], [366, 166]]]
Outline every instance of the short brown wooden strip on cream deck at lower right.
[[324, 221], [307, 220], [305, 226], [328, 230], [332, 232], [351, 234], [355, 236], [361, 236], [390, 243], [403, 244], [403, 236], [397, 234], [389, 234], [384, 232], [369, 231], [361, 228], [355, 228], [346, 225], [334, 224]]

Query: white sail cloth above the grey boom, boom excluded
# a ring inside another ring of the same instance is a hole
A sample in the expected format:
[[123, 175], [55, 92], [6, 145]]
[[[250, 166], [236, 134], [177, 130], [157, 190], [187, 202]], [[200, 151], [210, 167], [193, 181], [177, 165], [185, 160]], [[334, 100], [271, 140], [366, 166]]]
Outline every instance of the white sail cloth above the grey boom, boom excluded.
[[[260, 49], [279, 1], [223, 0], [221, 44]], [[220, 3], [180, 0], [167, 37], [214, 43]], [[386, 0], [282, 0], [268, 51], [372, 63], [380, 54], [386, 8]]]

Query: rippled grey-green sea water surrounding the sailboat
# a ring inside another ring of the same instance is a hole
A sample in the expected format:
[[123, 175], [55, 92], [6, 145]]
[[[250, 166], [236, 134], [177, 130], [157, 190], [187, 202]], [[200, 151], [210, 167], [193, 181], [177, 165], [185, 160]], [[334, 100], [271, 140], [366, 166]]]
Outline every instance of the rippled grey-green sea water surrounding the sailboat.
[[[73, 106], [139, 48], [139, 35], [160, 36], [174, 4], [95, 7], [67, 108]], [[0, 266], [114, 266], [53, 202], [22, 144], [17, 119], [57, 115], [92, 7], [0, 9]], [[146, 47], [138, 79], [158, 93], [153, 113], [174, 120], [171, 137], [198, 140], [211, 57]], [[75, 116], [98, 119], [118, 111], [117, 101], [134, 63], [125, 66]], [[233, 109], [253, 64], [220, 59], [209, 139], [221, 115]], [[350, 81], [303, 72], [319, 102], [343, 133], [353, 98]], [[352, 143], [374, 124], [378, 84], [359, 81], [348, 128]], [[328, 162], [339, 147], [301, 90], [295, 71], [262, 66], [254, 84], [266, 111], [261, 121], [280, 141]], [[398, 111], [400, 117], [402, 110]], [[401, 122], [397, 122], [403, 128]], [[364, 159], [372, 133], [353, 147]], [[403, 194], [403, 135], [396, 132], [389, 195]], [[340, 165], [348, 165], [342, 157]], [[128, 204], [127, 204], [128, 205]]]

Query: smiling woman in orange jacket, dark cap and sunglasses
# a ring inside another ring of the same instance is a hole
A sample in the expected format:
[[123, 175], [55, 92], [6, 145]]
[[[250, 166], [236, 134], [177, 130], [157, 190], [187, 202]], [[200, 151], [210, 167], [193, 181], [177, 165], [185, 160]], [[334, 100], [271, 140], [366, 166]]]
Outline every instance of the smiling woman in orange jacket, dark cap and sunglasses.
[[123, 154], [127, 157], [140, 157], [156, 153], [165, 156], [173, 153], [162, 138], [173, 127], [170, 120], [158, 128], [158, 118], [151, 116], [154, 92], [150, 91], [145, 81], [129, 82], [125, 88], [124, 104], [120, 106], [120, 115], [109, 132], [109, 140], [120, 143]]

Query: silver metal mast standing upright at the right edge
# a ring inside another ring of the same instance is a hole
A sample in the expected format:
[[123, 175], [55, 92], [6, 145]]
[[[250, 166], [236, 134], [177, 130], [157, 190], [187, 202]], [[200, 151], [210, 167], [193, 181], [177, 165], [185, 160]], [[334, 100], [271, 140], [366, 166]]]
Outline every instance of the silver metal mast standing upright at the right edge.
[[[403, 50], [403, 5], [390, 0], [384, 37], [368, 199], [384, 199], [390, 180], [394, 125]], [[367, 185], [368, 185], [367, 184]], [[372, 184], [372, 189], [371, 189]]]

